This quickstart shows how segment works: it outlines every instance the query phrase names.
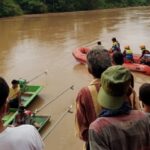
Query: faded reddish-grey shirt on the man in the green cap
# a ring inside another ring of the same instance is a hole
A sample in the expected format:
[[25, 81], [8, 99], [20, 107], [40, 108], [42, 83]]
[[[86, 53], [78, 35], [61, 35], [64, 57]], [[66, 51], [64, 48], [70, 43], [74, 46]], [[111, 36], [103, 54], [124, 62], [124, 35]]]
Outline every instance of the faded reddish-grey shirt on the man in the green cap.
[[150, 115], [101, 117], [90, 125], [90, 150], [150, 150]]

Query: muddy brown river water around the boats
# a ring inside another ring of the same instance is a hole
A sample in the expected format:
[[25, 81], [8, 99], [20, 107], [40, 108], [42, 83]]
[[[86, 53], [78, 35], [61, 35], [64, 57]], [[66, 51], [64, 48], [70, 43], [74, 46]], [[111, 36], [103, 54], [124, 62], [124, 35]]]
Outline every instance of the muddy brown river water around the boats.
[[[41, 135], [56, 123], [68, 106], [68, 113], [45, 139], [45, 150], [80, 150], [82, 142], [75, 137], [75, 97], [79, 89], [88, 85], [92, 76], [84, 65], [72, 57], [72, 51], [81, 46], [94, 46], [101, 40], [111, 47], [116, 37], [121, 47], [130, 45], [140, 53], [139, 45], [150, 49], [150, 7], [96, 10], [75, 13], [54, 13], [0, 19], [0, 72], [8, 83], [12, 79], [32, 80], [30, 84], [44, 86], [43, 91], [31, 104], [35, 110], [67, 90], [40, 115], [51, 115], [51, 123]], [[47, 74], [44, 74], [48, 71]], [[135, 89], [150, 77], [134, 73]]]

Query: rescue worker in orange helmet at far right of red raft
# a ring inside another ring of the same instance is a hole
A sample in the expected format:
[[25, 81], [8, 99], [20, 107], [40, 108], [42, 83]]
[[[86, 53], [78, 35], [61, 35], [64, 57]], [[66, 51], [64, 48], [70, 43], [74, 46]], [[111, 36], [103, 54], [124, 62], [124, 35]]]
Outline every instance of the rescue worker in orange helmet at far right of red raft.
[[140, 49], [142, 51], [140, 63], [150, 66], [150, 51], [146, 49], [145, 45], [141, 45]]

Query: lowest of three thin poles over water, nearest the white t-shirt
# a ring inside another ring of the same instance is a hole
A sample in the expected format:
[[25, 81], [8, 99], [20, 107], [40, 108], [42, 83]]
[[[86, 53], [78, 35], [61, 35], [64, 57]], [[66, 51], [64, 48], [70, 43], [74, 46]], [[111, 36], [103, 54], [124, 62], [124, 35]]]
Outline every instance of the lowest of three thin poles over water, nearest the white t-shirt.
[[64, 113], [58, 118], [58, 120], [54, 123], [54, 125], [48, 130], [48, 132], [42, 137], [42, 140], [44, 141], [55, 129], [55, 127], [61, 122], [61, 120], [68, 114], [72, 113], [71, 112], [72, 105], [70, 105], [67, 110], [64, 111]]

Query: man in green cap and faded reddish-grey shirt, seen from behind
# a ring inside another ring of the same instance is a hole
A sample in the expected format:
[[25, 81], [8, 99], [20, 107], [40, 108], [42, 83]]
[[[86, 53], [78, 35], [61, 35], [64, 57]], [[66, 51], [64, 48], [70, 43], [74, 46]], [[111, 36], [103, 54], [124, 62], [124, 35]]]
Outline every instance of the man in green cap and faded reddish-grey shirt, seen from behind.
[[130, 82], [131, 73], [122, 66], [112, 66], [102, 74], [98, 102], [103, 109], [90, 125], [90, 150], [150, 149], [150, 116], [131, 110]]

